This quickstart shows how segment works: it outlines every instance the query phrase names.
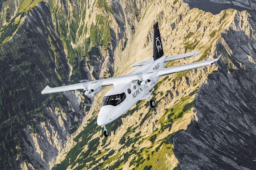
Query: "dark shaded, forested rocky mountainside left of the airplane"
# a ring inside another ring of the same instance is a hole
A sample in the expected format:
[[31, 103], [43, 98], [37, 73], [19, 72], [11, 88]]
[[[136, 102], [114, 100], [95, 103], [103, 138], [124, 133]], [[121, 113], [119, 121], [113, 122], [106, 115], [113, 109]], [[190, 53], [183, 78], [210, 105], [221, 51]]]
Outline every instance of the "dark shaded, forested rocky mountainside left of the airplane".
[[[1, 133], [1, 139], [5, 139], [2, 145], [11, 151], [2, 155], [7, 158], [1, 157], [1, 168], [49, 169], [51, 158], [65, 147], [71, 122], [81, 121], [84, 114], [79, 104], [67, 101], [63, 95], [51, 96], [50, 100], [49, 96], [40, 95], [43, 82], [66, 84], [70, 71], [49, 5], [39, 2], [27, 12], [18, 12], [9, 25], [12, 22], [18, 23], [17, 30], [13, 30], [13, 36], [7, 37], [8, 42], [1, 45], [2, 73], [8, 75], [1, 81], [1, 127], [6, 132], [11, 129], [9, 134]], [[10, 92], [8, 96], [6, 91]]]

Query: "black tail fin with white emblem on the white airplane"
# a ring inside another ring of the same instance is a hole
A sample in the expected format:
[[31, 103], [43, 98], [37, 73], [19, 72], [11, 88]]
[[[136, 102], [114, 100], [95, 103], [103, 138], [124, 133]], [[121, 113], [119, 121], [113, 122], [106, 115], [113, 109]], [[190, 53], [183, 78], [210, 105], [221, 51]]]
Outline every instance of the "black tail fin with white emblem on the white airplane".
[[153, 33], [153, 58], [156, 60], [164, 55], [158, 22], [153, 26]]

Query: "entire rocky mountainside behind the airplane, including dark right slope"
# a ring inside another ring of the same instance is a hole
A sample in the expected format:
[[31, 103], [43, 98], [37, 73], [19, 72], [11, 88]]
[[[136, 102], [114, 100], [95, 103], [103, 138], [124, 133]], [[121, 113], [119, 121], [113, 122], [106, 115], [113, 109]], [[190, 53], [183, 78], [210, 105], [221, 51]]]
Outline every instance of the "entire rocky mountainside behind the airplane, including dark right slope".
[[[1, 6], [0, 168], [253, 167], [252, 9], [213, 15], [177, 0], [7, 0]], [[165, 55], [201, 51], [168, 66], [222, 54], [218, 67], [163, 77], [152, 90], [156, 107], [136, 103], [107, 126], [108, 138], [96, 118], [109, 87], [93, 101], [72, 92], [40, 94], [46, 85], [129, 73], [133, 62], [151, 58], [156, 21]]]

